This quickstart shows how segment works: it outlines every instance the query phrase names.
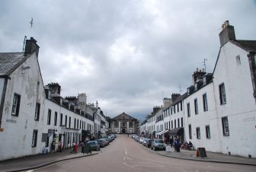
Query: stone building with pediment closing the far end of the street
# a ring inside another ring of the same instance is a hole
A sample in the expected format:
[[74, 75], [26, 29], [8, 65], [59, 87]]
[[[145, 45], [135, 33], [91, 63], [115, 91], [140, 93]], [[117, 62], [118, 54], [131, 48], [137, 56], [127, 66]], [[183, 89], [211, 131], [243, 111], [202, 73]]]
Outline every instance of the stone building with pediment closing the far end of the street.
[[121, 113], [120, 115], [111, 119], [110, 129], [112, 133], [137, 133], [138, 125], [138, 119], [135, 119], [126, 113]]

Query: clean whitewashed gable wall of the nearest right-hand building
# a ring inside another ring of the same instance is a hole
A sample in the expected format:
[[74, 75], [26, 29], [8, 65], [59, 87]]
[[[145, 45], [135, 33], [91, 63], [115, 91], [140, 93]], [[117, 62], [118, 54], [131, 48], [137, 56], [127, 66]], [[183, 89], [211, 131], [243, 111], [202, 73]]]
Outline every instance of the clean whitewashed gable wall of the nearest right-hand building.
[[[241, 65], [236, 62], [240, 56]], [[226, 43], [219, 53], [214, 71], [214, 94], [219, 129], [219, 150], [227, 154], [256, 157], [256, 105], [247, 52], [233, 43]], [[225, 84], [226, 104], [220, 105], [219, 84]], [[222, 134], [223, 116], [228, 116], [229, 136]]]

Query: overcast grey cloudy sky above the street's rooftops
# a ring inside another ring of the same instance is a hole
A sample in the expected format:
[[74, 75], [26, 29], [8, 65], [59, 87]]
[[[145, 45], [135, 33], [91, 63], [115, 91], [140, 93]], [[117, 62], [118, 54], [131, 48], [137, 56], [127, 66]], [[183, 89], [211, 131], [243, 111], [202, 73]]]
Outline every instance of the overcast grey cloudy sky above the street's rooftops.
[[34, 37], [44, 85], [143, 120], [184, 94], [204, 59], [213, 72], [224, 21], [237, 40], [256, 40], [255, 19], [256, 0], [2, 0], [0, 52], [22, 52]]

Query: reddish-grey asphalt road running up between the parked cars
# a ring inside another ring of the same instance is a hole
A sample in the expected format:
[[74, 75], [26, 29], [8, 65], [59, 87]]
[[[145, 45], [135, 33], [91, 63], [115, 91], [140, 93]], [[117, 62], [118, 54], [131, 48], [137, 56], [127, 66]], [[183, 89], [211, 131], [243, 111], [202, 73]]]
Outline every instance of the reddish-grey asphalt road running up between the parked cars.
[[149, 148], [135, 142], [127, 135], [117, 139], [99, 154], [85, 158], [62, 161], [34, 171], [255, 171], [255, 167], [237, 164], [219, 164], [202, 161], [187, 161], [155, 154]]

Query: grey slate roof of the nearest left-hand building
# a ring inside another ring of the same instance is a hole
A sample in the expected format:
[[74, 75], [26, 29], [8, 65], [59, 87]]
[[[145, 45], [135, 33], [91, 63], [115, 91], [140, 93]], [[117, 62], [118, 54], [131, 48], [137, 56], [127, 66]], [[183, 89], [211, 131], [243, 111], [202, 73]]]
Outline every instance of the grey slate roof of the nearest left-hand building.
[[24, 53], [0, 53], [0, 75], [10, 75], [26, 59]]

